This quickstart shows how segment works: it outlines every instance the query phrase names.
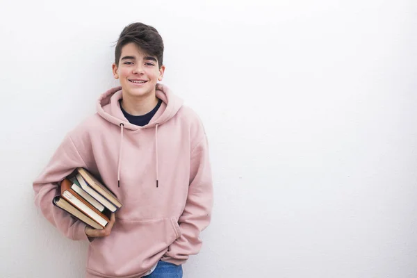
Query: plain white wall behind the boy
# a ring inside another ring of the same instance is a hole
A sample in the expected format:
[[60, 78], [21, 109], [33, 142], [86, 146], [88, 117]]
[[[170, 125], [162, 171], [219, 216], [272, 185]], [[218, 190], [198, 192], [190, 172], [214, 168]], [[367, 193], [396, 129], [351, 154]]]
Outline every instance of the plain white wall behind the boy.
[[417, 277], [414, 0], [1, 1], [0, 277], [83, 277], [31, 182], [115, 85], [131, 22], [202, 117], [213, 222], [186, 278]]

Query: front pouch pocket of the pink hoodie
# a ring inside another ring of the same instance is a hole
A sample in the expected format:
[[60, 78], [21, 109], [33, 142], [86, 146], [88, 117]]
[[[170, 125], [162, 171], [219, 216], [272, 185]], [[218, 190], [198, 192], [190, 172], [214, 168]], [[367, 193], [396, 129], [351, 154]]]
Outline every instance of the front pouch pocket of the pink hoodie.
[[110, 236], [90, 243], [87, 269], [102, 277], [137, 277], [158, 263], [180, 236], [176, 218], [117, 218]]

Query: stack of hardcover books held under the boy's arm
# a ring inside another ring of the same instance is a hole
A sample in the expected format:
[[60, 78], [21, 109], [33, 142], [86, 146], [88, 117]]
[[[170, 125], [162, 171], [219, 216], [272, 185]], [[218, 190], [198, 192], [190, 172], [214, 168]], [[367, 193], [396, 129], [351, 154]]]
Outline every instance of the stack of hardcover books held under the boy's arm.
[[95, 229], [106, 227], [108, 215], [122, 207], [103, 183], [81, 167], [60, 183], [60, 195], [53, 203]]

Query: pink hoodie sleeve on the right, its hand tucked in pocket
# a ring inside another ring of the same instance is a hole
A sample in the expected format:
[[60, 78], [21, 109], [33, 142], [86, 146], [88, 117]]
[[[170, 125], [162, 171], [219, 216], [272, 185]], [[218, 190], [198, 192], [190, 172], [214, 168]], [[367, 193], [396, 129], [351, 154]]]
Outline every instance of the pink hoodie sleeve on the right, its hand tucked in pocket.
[[179, 265], [202, 247], [199, 234], [211, 220], [213, 206], [213, 181], [208, 159], [206, 136], [193, 148], [190, 164], [190, 185], [184, 211], [179, 218], [181, 237], [165, 253], [163, 261]]

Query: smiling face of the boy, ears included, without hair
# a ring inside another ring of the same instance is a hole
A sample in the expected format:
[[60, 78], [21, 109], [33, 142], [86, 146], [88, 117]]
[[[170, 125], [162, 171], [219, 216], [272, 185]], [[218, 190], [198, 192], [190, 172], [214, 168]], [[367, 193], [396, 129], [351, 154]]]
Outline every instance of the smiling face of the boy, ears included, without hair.
[[120, 79], [124, 95], [148, 97], [162, 80], [165, 67], [159, 67], [156, 57], [148, 56], [133, 42], [122, 47], [119, 65], [113, 64], [113, 76]]

